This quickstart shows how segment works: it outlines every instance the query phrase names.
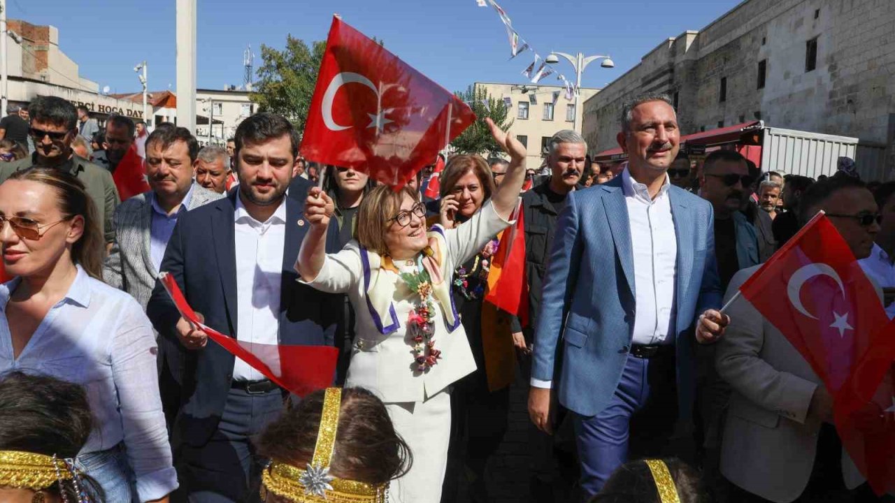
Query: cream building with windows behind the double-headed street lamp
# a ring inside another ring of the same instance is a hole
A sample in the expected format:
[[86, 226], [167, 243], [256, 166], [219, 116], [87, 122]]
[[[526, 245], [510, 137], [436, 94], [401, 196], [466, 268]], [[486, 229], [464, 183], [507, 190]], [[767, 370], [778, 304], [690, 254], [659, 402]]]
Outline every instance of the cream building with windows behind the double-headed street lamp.
[[[507, 120], [513, 121], [509, 133], [516, 135], [527, 149], [526, 169], [541, 167], [544, 149], [553, 133], [575, 129], [575, 98], [566, 99], [566, 88], [562, 86], [475, 82], [474, 89], [483, 89], [498, 101], [508, 99]], [[581, 88], [580, 101], [584, 103], [599, 91]]]

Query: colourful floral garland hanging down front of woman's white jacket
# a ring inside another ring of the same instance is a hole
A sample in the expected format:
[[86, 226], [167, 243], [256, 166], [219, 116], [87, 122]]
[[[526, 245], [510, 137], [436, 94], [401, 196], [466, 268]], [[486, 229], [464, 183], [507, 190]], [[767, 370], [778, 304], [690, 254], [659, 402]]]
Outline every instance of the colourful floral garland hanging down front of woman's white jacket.
[[420, 300], [414, 303], [407, 315], [407, 332], [413, 340], [413, 361], [416, 370], [429, 371], [439, 362], [441, 351], [435, 349], [435, 303], [432, 298], [432, 283], [429, 272], [422, 267], [422, 256], [417, 260], [416, 271], [401, 273], [401, 279]]

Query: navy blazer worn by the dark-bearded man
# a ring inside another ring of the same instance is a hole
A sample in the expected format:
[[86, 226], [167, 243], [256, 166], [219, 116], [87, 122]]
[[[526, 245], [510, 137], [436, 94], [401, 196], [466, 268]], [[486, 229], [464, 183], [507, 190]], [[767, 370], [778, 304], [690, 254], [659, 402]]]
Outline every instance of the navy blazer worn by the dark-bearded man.
[[[236, 256], [234, 213], [237, 189], [227, 197], [184, 213], [168, 242], [161, 270], [172, 274], [186, 300], [205, 317], [205, 324], [235, 337]], [[295, 194], [297, 195], [297, 194]], [[294, 264], [305, 232], [304, 198], [286, 197], [286, 238], [279, 306], [279, 342], [283, 345], [333, 345], [338, 296], [298, 283]], [[301, 225], [300, 225], [301, 224]], [[328, 239], [334, 233], [328, 233]], [[209, 341], [191, 351], [180, 344], [175, 325], [180, 314], [164, 287], [156, 283], [147, 306], [158, 330], [159, 348], [175, 379], [180, 403], [172, 441], [202, 445], [217, 429], [233, 379], [234, 355]], [[293, 362], [302, 364], [302, 362]], [[167, 413], [167, 411], [166, 411]]]

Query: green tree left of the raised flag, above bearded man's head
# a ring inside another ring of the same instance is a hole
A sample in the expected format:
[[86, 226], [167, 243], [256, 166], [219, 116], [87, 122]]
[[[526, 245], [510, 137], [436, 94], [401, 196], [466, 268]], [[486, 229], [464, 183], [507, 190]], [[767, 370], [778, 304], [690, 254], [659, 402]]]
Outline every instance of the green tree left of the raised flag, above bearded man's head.
[[285, 116], [297, 131], [304, 130], [308, 108], [317, 83], [317, 72], [323, 61], [326, 42], [312, 42], [311, 47], [300, 38], [286, 37], [286, 48], [261, 45], [261, 60], [255, 91], [249, 96], [260, 111]]

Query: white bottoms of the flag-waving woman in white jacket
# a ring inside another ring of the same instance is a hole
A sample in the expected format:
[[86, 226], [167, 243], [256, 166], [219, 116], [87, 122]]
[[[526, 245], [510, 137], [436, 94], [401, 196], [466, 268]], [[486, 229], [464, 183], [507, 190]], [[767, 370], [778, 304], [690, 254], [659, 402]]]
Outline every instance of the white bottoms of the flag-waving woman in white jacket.
[[450, 439], [450, 394], [424, 402], [386, 404], [395, 431], [410, 447], [413, 467], [388, 487], [390, 503], [439, 503]]

